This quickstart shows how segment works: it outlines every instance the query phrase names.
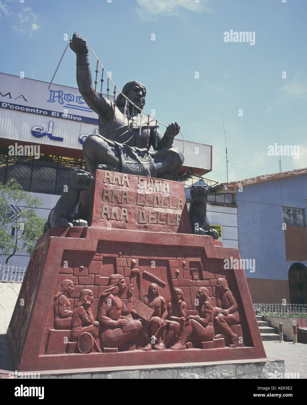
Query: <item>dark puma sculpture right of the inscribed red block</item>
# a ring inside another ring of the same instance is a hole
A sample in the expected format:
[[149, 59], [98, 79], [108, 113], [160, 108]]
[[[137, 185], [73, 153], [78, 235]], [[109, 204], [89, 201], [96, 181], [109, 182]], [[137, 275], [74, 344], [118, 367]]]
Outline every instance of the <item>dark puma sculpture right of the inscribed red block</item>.
[[210, 229], [210, 224], [207, 218], [207, 186], [194, 185], [190, 190], [192, 201], [189, 209], [189, 217], [192, 232], [199, 235], [212, 236], [213, 239], [218, 239], [218, 232], [214, 229]]

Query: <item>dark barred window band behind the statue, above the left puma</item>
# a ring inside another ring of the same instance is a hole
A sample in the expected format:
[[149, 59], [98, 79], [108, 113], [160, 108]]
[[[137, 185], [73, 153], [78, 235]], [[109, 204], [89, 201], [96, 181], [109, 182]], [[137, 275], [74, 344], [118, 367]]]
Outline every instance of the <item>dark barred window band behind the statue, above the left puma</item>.
[[25, 191], [61, 195], [72, 167], [84, 170], [85, 161], [43, 153], [39, 159], [8, 156], [8, 149], [0, 149], [0, 183], [14, 177]]

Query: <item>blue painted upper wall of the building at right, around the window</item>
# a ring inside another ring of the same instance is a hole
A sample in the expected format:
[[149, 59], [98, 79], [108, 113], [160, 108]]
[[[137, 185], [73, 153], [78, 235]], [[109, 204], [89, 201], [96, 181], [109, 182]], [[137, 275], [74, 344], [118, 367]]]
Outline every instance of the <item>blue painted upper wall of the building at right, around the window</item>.
[[306, 218], [307, 175], [244, 186], [237, 205], [241, 258], [255, 259], [255, 272], [245, 270], [246, 277], [288, 280], [295, 262], [286, 261], [282, 207], [303, 208]]

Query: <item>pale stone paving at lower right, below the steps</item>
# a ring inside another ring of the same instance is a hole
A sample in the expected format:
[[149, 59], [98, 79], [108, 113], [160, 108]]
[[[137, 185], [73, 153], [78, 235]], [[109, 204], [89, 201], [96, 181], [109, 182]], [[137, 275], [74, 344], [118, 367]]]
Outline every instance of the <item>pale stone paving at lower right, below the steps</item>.
[[263, 341], [268, 358], [279, 358], [285, 361], [286, 373], [300, 373], [301, 378], [307, 378], [307, 344], [279, 341]]

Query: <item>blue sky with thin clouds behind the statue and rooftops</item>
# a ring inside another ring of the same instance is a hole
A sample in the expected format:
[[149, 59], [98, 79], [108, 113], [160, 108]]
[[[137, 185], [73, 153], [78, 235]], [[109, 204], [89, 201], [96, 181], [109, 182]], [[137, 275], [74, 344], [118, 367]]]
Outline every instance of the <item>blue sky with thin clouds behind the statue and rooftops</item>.
[[[50, 81], [64, 34], [77, 32], [118, 87], [146, 86], [146, 112], [213, 145], [207, 177], [226, 179], [222, 117], [229, 181], [278, 172], [278, 156], [268, 155], [277, 134], [300, 146], [299, 158], [281, 156], [282, 170], [307, 166], [305, 0], [20, 1], [0, 0], [1, 72]], [[255, 45], [224, 42], [230, 30], [255, 32]], [[77, 87], [70, 49], [54, 83]]]

